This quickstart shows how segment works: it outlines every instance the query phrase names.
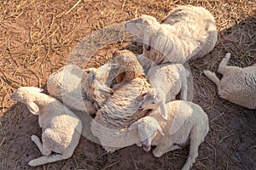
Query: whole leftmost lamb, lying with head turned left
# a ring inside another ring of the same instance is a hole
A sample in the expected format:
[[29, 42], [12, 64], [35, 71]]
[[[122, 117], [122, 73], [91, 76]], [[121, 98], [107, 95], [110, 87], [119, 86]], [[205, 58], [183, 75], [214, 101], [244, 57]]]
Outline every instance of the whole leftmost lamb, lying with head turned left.
[[78, 116], [58, 99], [41, 92], [41, 88], [21, 87], [10, 96], [26, 104], [32, 114], [38, 115], [39, 126], [43, 129], [42, 142], [36, 135], [31, 137], [43, 156], [29, 161], [30, 166], [61, 161], [72, 156], [82, 131]]

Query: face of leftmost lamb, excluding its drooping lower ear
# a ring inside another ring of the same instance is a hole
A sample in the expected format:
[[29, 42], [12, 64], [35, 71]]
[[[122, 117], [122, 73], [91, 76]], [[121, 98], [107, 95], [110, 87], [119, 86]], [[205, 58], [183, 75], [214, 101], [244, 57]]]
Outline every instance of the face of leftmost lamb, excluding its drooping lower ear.
[[10, 95], [10, 99], [26, 103], [27, 101], [32, 100], [33, 93], [40, 93], [43, 91], [42, 88], [20, 87], [16, 92]]

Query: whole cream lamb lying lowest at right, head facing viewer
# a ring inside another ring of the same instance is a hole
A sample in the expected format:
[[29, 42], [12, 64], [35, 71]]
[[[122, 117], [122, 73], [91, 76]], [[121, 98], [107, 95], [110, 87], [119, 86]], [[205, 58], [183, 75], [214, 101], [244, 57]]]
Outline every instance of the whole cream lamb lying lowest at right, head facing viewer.
[[168, 120], [164, 120], [157, 110], [134, 122], [128, 129], [137, 129], [137, 138], [143, 141], [145, 151], [156, 145], [153, 150], [155, 157], [177, 150], [190, 141], [189, 158], [182, 168], [189, 170], [198, 156], [199, 145], [209, 131], [207, 114], [199, 105], [189, 101], [175, 100], [167, 103], [166, 107]]

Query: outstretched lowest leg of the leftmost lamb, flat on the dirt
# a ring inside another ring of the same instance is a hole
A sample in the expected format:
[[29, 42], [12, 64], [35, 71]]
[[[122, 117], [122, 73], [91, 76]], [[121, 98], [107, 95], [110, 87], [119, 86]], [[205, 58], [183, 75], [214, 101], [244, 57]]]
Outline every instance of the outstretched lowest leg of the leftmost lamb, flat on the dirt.
[[41, 156], [37, 159], [33, 159], [32, 161], [29, 161], [28, 165], [35, 167], [38, 165], [44, 165], [46, 163], [54, 162], [54, 161], [61, 161], [64, 159], [67, 159], [68, 156], [62, 156], [61, 154], [51, 154], [49, 156]]

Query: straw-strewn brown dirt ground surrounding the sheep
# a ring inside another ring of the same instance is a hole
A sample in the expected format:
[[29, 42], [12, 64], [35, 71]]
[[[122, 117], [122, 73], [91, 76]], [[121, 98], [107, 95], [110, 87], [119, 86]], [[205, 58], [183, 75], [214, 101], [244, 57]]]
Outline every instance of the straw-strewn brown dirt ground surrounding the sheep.
[[[108, 154], [101, 145], [84, 137], [68, 160], [29, 167], [28, 161], [40, 156], [30, 139], [32, 134], [40, 136], [38, 117], [29, 113], [25, 105], [9, 99], [20, 86], [45, 88], [49, 75], [67, 65], [73, 48], [91, 32], [141, 14], [161, 20], [180, 4], [207, 8], [218, 26], [216, 47], [205, 58], [189, 63], [195, 85], [193, 101], [207, 112], [211, 129], [192, 169], [256, 169], [255, 111], [220, 99], [216, 86], [202, 74], [204, 70], [216, 71], [227, 52], [232, 55], [230, 65], [247, 66], [256, 62], [256, 4], [253, 0], [1, 1], [0, 169], [173, 170], [183, 167], [189, 146], [160, 158], [136, 145]], [[114, 49], [127, 44], [131, 42], [108, 45], [94, 55], [87, 67], [102, 65]], [[136, 43], [131, 47], [141, 51]]]

